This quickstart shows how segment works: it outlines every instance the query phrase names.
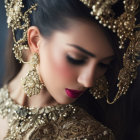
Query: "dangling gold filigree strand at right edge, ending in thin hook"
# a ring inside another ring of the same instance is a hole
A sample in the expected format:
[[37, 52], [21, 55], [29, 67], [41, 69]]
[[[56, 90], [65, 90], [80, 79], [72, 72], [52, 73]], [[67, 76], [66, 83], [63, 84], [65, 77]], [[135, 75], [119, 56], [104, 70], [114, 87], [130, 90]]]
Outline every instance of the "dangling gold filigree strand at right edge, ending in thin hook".
[[123, 56], [123, 68], [118, 75], [119, 83], [117, 84], [118, 92], [112, 102], [109, 101], [107, 95], [107, 102], [112, 104], [116, 102], [121, 95], [125, 95], [130, 84], [137, 76], [137, 67], [140, 65], [140, 61], [137, 56], [140, 54], [140, 32], [135, 32], [133, 39], [131, 40], [126, 53]]

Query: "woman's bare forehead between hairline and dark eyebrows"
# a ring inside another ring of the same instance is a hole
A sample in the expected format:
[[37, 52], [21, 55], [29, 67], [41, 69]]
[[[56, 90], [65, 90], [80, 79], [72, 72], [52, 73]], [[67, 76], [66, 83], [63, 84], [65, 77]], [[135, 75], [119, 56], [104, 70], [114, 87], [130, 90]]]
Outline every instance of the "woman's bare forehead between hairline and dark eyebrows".
[[64, 31], [55, 31], [51, 37], [53, 43], [76, 44], [99, 57], [114, 54], [111, 43], [106, 34], [96, 24], [84, 20], [73, 20], [69, 28]]

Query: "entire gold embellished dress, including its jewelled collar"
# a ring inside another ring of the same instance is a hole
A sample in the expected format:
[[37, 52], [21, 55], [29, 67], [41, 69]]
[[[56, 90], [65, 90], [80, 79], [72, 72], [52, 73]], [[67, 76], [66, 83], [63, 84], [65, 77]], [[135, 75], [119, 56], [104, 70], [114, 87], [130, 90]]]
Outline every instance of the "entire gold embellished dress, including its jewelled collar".
[[0, 89], [0, 115], [9, 123], [4, 140], [114, 140], [111, 130], [80, 107], [20, 106], [9, 97], [7, 86]]

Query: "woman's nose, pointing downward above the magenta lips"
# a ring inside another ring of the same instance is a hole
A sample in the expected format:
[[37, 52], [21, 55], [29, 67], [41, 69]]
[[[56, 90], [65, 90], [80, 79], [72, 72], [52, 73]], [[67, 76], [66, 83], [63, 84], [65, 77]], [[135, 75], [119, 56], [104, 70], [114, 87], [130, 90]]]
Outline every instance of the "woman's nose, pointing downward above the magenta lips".
[[96, 77], [96, 64], [93, 64], [85, 66], [85, 68], [80, 71], [77, 81], [82, 86], [90, 88], [93, 87]]

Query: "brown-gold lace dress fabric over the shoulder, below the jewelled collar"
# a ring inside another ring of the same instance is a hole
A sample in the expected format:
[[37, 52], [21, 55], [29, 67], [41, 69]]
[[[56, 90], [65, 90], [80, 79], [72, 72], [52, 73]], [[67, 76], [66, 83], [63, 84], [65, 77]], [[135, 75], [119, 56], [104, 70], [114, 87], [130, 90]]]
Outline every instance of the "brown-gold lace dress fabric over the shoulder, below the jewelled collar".
[[96, 121], [86, 111], [77, 108], [75, 114], [57, 121], [47, 121], [30, 133], [30, 140], [114, 140], [110, 129]]

